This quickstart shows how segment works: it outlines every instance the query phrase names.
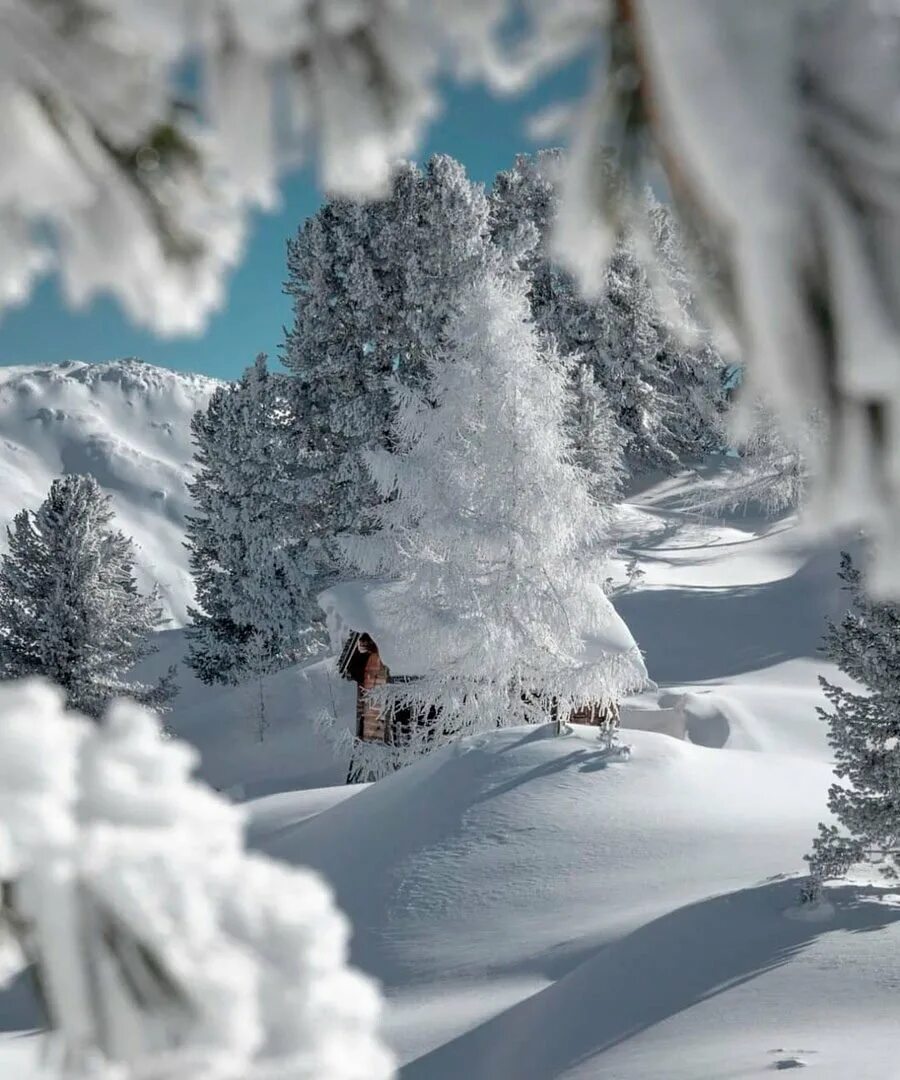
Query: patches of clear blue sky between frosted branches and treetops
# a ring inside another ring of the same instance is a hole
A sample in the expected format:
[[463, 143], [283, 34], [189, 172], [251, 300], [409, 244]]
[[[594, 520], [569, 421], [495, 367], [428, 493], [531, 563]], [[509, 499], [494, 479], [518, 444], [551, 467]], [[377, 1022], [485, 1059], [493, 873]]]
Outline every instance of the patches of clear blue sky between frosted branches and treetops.
[[[489, 184], [518, 152], [536, 148], [527, 133], [528, 117], [580, 96], [585, 80], [585, 69], [573, 67], [518, 98], [496, 98], [481, 87], [454, 87], [417, 158], [452, 153], [470, 176]], [[158, 338], [132, 324], [107, 297], [71, 311], [50, 278], [26, 306], [2, 316], [0, 365], [139, 356], [178, 370], [233, 378], [257, 352], [274, 359], [282, 327], [291, 319], [281, 291], [285, 241], [322, 199], [311, 171], [285, 177], [282, 195], [277, 213], [255, 216], [243, 262], [228, 283], [225, 307], [200, 337]]]

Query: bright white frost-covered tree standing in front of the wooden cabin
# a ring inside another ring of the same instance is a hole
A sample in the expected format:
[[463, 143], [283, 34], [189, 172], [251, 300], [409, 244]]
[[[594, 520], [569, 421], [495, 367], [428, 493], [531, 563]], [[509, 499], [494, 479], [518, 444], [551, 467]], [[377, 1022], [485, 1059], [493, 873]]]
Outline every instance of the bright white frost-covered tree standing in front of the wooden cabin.
[[[393, 449], [366, 458], [384, 501], [344, 550], [397, 582], [384, 616], [425, 658], [420, 678], [371, 691], [389, 712], [435, 717], [413, 726], [407, 755], [643, 680], [603, 591], [604, 515], [572, 461], [568, 380], [524, 281], [484, 273], [462, 289], [424, 390], [394, 383]], [[585, 637], [607, 633], [618, 647], [586, 652]]]

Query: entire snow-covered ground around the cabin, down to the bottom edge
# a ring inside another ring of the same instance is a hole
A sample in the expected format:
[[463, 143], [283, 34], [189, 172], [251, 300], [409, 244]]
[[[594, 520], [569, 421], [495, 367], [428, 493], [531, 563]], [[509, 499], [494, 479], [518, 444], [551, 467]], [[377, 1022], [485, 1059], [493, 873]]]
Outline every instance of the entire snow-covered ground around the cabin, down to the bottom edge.
[[[44, 462], [36, 494], [58, 458], [31, 445], [48, 428], [19, 432]], [[817, 679], [837, 674], [817, 650], [843, 605], [838, 546], [791, 518], [704, 521], [683, 509], [693, 484], [648, 483], [619, 521], [621, 565], [644, 576], [617, 607], [659, 687], [623, 708], [643, 729], [628, 758], [587, 728], [512, 729], [347, 788], [313, 729], [352, 720], [326, 661], [265, 680], [261, 740], [258, 687], [182, 671], [172, 727], [250, 800], [252, 843], [330, 878], [409, 1080], [900, 1078], [900, 897], [870, 878], [795, 906], [831, 779]], [[164, 557], [183, 565], [177, 543]], [[153, 664], [179, 659], [180, 631], [160, 645]], [[23, 982], [0, 996], [1, 1030], [37, 1022]], [[36, 1045], [5, 1042], [0, 1076]]]

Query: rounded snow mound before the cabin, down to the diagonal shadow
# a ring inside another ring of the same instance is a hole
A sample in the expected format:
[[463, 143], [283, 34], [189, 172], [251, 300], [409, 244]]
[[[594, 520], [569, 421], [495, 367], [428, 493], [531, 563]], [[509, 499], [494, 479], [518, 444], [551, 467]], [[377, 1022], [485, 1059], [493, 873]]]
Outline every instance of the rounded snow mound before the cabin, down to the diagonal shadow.
[[[711, 877], [724, 891], [748, 875], [802, 868], [828, 766], [644, 731], [623, 733], [629, 760], [610, 760], [595, 729], [552, 730], [511, 728], [444, 747], [282, 833], [272, 850], [324, 873], [357, 928], [360, 962], [388, 985], [408, 964], [481, 970], [480, 927], [493, 961], [508, 962], [522, 947], [522, 920], [539, 956], [560, 944], [554, 912], [566, 913], [566, 935], [579, 926], [602, 935], [626, 895], [632, 921], [673, 897], [697, 899]], [[760, 798], [773, 786], [777, 800]], [[675, 865], [654, 880], [663, 850]], [[452, 927], [467, 927], [469, 942], [443, 955]]]

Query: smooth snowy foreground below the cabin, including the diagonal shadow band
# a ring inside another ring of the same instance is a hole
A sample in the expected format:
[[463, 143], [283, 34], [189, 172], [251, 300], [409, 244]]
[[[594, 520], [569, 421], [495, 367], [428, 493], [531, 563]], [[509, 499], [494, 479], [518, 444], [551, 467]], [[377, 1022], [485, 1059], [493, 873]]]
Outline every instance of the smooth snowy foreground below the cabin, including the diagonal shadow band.
[[[762, 1080], [783, 1045], [835, 1080], [889, 1075], [873, 1063], [892, 1040], [900, 912], [845, 888], [829, 919], [784, 917], [829, 765], [622, 739], [628, 758], [590, 728], [508, 729], [299, 824], [269, 808], [258, 842], [334, 887], [404, 1077]], [[867, 1042], [852, 1059], [847, 1008]]]

